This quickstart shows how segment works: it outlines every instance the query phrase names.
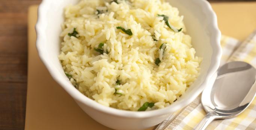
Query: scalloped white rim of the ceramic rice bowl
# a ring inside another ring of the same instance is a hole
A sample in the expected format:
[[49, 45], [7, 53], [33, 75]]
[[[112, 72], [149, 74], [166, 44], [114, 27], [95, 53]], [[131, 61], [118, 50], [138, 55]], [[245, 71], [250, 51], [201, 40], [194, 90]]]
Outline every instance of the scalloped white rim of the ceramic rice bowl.
[[212, 48], [214, 48], [213, 54], [211, 56], [211, 65], [208, 69], [207, 75], [205, 76], [204, 81], [202, 82], [202, 84], [200, 85], [199, 89], [192, 90], [193, 92], [187, 93], [188, 95], [190, 94], [190, 96], [188, 96], [189, 98], [186, 98], [182, 101], [180, 101], [179, 104], [175, 104], [175, 105], [170, 105], [168, 107], [165, 108], [161, 108], [158, 110], [152, 110], [152, 111], [142, 111], [142, 112], [138, 112], [138, 111], [126, 111], [126, 110], [119, 110], [116, 108], [112, 108], [112, 107], [106, 107], [104, 105], [101, 105], [99, 103], [97, 103], [94, 100], [91, 100], [90, 98], [86, 97], [85, 95], [83, 95], [81, 92], [77, 91], [76, 88], [71, 87], [70, 84], [67, 84], [66, 81], [63, 80], [63, 78], [58, 77], [57, 74], [55, 74], [55, 67], [52, 67], [51, 62], [49, 62], [47, 60], [47, 58], [43, 53], [43, 49], [41, 45], [43, 45], [42, 43], [44, 42], [46, 36], [43, 33], [43, 26], [45, 26], [45, 24], [43, 23], [43, 18], [46, 17], [45, 12], [43, 11], [45, 9], [45, 7], [47, 7], [47, 3], [46, 1], [51, 1], [51, 0], [43, 0], [42, 3], [40, 4], [39, 8], [38, 8], [38, 19], [37, 19], [37, 24], [36, 24], [36, 34], [37, 34], [37, 40], [36, 40], [36, 48], [37, 51], [39, 53], [39, 57], [41, 59], [41, 61], [43, 62], [43, 64], [46, 66], [46, 68], [48, 69], [48, 71], [50, 72], [51, 76], [54, 78], [55, 81], [58, 82], [58, 84], [61, 85], [61, 87], [64, 88], [65, 91], [68, 92], [68, 94], [71, 95], [71, 97], [73, 97], [75, 100], [86, 104], [87, 106], [94, 108], [98, 111], [101, 111], [103, 113], [107, 113], [107, 114], [112, 114], [115, 116], [119, 116], [119, 117], [129, 117], [129, 118], [148, 118], [148, 117], [154, 117], [154, 116], [159, 116], [159, 115], [164, 115], [164, 114], [171, 114], [177, 110], [179, 110], [182, 107], [185, 107], [187, 105], [189, 105], [190, 103], [192, 103], [193, 100], [195, 100], [196, 97], [198, 97], [198, 95], [204, 90], [204, 86], [206, 86], [208, 84], [208, 82], [210, 81], [211, 77], [214, 75], [214, 73], [217, 71], [217, 69], [219, 68], [220, 65], [220, 58], [222, 55], [222, 49], [221, 46], [219, 44], [220, 42], [220, 37], [221, 37], [221, 32], [217, 26], [217, 16], [214, 13], [210, 3], [206, 0], [194, 0], [196, 3], [201, 4], [202, 7], [204, 7], [205, 11], [207, 11], [209, 13], [209, 17], [210, 17], [210, 21], [213, 22], [212, 23], [212, 27], [211, 27], [211, 31], [213, 31], [214, 34], [214, 42], [216, 44], [211, 45]]

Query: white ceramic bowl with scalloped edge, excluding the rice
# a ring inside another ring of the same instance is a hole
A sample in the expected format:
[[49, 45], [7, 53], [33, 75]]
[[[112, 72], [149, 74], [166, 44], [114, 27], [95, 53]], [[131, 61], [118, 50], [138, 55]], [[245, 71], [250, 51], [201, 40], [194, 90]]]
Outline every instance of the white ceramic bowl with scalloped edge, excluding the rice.
[[206, 0], [167, 0], [178, 7], [184, 16], [187, 32], [192, 36], [196, 55], [203, 57], [201, 75], [183, 96], [169, 107], [153, 111], [124, 111], [105, 107], [81, 94], [70, 83], [58, 59], [60, 53], [61, 23], [64, 21], [64, 7], [79, 0], [43, 0], [39, 6], [36, 25], [39, 56], [52, 77], [70, 94], [76, 103], [94, 120], [117, 130], [141, 130], [161, 123], [180, 108], [191, 103], [206, 87], [220, 64], [221, 33], [217, 17]]

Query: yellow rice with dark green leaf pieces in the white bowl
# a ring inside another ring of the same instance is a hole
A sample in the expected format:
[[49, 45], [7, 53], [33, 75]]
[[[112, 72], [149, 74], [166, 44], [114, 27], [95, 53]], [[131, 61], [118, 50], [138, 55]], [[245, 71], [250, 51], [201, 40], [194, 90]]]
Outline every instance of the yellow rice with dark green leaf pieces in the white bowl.
[[63, 69], [80, 92], [102, 105], [164, 108], [199, 75], [202, 59], [183, 33], [183, 16], [164, 0], [81, 0], [64, 15]]

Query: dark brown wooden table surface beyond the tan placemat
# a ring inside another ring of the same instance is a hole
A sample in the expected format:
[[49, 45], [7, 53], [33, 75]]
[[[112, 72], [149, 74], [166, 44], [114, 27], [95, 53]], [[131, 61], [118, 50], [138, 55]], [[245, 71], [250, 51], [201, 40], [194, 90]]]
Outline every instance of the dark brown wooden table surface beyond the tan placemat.
[[27, 10], [30, 5], [40, 2], [41, 0], [0, 0], [0, 130], [24, 130], [27, 93]]

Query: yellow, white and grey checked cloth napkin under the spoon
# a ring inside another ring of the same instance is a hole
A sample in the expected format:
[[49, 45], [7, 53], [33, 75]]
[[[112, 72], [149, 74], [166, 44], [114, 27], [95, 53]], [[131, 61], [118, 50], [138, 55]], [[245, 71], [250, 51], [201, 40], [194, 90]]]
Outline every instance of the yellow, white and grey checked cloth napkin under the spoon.
[[[228, 36], [222, 36], [223, 55], [221, 65], [229, 61], [244, 61], [256, 67], [256, 31], [243, 43]], [[172, 114], [155, 130], [193, 130], [204, 118], [201, 95], [182, 110]], [[214, 120], [207, 130], [256, 130], [256, 98], [239, 116], [225, 120]]]

